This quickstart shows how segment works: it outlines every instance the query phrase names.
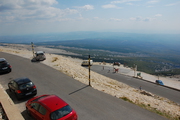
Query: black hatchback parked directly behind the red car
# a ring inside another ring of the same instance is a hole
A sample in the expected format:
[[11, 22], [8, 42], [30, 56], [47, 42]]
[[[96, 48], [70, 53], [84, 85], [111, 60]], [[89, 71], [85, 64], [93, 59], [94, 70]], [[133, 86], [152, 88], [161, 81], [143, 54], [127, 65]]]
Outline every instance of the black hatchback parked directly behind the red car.
[[30, 95], [36, 95], [37, 89], [29, 78], [18, 78], [8, 83], [9, 91], [13, 92], [17, 99], [21, 99]]

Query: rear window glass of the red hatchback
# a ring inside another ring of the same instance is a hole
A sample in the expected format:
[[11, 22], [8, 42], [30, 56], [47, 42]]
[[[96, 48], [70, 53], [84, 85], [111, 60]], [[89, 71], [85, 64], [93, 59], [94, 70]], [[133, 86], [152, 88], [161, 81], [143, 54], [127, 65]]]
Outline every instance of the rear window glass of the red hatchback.
[[50, 118], [51, 118], [51, 120], [57, 120], [59, 118], [66, 116], [71, 111], [72, 111], [71, 107], [69, 105], [67, 105], [61, 109], [58, 109], [58, 110], [52, 112], [50, 115]]

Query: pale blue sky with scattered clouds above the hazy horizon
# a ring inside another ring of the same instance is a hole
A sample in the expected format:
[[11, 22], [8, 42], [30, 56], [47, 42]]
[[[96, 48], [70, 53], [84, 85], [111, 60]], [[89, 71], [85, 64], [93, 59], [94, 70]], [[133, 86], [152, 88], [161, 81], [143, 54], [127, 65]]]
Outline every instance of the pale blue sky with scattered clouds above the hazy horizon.
[[74, 31], [180, 34], [180, 0], [0, 0], [0, 36]]

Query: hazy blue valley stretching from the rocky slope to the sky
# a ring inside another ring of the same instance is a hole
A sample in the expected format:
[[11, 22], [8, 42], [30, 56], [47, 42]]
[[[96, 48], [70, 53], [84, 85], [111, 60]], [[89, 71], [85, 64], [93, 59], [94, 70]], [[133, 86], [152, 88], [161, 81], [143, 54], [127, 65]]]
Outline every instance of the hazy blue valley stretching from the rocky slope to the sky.
[[98, 62], [138, 66], [150, 74], [180, 74], [180, 35], [79, 32], [52, 35], [0, 37], [1, 43], [21, 43], [64, 49]]

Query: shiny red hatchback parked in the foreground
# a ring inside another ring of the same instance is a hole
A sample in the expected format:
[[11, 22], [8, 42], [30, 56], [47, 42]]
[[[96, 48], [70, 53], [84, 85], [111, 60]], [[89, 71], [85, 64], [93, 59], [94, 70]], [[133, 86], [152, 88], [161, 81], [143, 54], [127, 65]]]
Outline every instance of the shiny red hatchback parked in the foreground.
[[76, 112], [56, 95], [40, 95], [28, 100], [26, 111], [36, 120], [77, 120]]

